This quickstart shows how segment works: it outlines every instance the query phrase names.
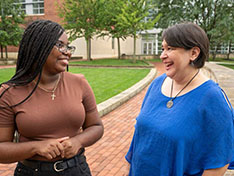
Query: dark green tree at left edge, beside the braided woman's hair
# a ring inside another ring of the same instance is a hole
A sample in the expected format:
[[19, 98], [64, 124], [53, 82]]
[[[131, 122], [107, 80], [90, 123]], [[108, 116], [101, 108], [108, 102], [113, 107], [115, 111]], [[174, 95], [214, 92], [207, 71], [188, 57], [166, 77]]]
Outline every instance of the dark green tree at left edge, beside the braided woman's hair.
[[3, 58], [3, 48], [8, 58], [7, 46], [18, 46], [23, 33], [19, 25], [24, 23], [25, 15], [17, 0], [0, 1], [0, 15], [1, 58]]

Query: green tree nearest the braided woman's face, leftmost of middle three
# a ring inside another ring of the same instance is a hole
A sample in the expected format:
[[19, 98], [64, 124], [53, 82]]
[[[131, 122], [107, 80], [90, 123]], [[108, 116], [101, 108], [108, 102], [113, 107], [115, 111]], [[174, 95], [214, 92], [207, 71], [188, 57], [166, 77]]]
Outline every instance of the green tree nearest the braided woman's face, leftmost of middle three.
[[91, 39], [98, 33], [102, 21], [103, 4], [104, 0], [64, 0], [59, 7], [69, 39], [85, 38], [88, 60], [91, 60]]

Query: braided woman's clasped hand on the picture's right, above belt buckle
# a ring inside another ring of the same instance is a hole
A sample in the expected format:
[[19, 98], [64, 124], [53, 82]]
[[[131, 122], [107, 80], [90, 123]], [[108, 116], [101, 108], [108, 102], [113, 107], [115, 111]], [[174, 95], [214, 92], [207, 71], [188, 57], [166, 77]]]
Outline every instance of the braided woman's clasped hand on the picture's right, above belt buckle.
[[62, 145], [64, 147], [65, 158], [71, 158], [75, 156], [82, 147], [80, 141], [77, 140], [77, 138], [69, 138], [67, 140], [64, 140], [62, 142]]

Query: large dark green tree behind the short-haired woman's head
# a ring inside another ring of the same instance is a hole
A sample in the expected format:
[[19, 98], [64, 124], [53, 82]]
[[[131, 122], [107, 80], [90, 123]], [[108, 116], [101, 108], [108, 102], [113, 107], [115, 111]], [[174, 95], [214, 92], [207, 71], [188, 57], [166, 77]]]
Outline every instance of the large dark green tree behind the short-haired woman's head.
[[233, 31], [233, 15], [230, 17], [233, 0], [154, 0], [154, 3], [163, 14], [156, 27], [166, 28], [182, 21], [195, 22], [207, 33], [211, 48], [222, 43], [224, 35], [230, 37]]

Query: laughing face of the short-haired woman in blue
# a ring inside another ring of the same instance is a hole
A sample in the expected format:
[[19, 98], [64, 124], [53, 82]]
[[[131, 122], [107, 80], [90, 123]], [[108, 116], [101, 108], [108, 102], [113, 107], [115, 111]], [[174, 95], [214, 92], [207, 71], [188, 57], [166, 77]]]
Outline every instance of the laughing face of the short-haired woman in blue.
[[194, 69], [189, 63], [194, 60], [193, 50], [172, 47], [165, 40], [162, 42], [162, 54], [160, 58], [165, 66], [166, 75], [172, 79], [180, 79], [190, 74]]

